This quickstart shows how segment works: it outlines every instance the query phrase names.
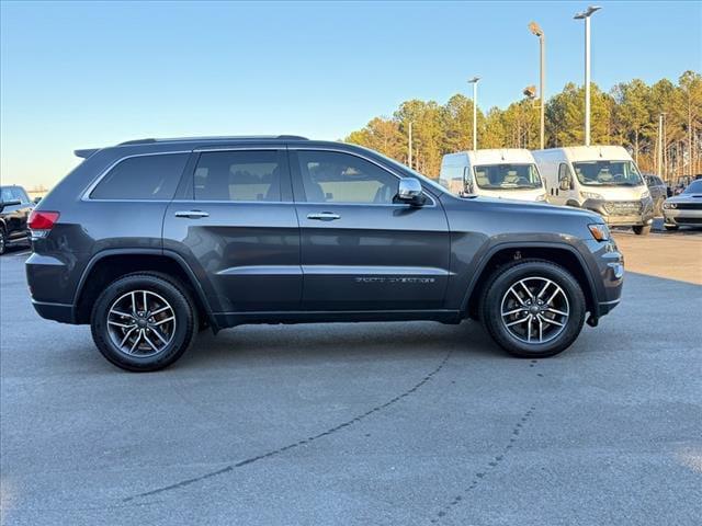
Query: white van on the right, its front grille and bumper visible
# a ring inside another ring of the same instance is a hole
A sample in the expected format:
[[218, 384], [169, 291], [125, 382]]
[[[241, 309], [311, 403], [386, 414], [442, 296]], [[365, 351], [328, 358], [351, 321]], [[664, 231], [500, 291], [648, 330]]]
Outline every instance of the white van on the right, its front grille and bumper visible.
[[597, 211], [612, 226], [646, 235], [654, 202], [636, 163], [621, 146], [573, 146], [533, 151], [548, 203]]

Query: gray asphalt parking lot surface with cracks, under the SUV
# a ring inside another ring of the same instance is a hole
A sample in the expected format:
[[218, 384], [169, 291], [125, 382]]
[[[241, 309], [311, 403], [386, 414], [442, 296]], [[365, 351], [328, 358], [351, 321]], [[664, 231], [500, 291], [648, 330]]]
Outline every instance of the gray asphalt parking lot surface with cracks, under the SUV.
[[39, 319], [10, 253], [2, 524], [700, 524], [702, 236], [616, 236], [622, 305], [554, 358], [474, 322], [263, 325], [140, 375]]

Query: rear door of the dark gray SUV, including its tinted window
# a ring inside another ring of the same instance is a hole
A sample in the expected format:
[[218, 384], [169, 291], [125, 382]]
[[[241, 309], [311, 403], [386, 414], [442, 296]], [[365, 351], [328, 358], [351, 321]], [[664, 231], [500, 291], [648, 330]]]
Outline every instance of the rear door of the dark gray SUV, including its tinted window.
[[218, 312], [296, 310], [299, 229], [283, 147], [202, 150], [163, 222]]

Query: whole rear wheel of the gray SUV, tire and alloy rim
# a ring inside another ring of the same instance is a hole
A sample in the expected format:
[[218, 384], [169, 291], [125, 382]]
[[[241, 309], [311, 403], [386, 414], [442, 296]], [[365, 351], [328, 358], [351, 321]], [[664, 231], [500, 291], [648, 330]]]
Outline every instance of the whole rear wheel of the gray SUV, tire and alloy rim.
[[92, 308], [90, 325], [102, 355], [132, 371], [171, 365], [199, 327], [185, 289], [159, 273], [129, 274], [110, 284]]

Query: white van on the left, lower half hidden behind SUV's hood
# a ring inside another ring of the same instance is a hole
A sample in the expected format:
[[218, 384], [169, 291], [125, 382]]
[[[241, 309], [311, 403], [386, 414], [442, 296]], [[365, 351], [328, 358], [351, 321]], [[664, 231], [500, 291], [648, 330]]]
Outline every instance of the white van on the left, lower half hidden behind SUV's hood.
[[439, 183], [458, 195], [546, 201], [536, 161], [529, 150], [519, 148], [443, 156]]

